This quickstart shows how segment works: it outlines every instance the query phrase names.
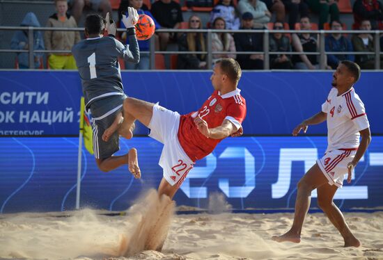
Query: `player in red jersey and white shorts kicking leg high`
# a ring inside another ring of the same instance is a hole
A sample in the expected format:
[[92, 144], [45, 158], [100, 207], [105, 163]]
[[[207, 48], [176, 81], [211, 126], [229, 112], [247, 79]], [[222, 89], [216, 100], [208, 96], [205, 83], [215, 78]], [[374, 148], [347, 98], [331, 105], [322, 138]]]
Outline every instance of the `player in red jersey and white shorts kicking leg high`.
[[242, 134], [246, 101], [237, 88], [241, 74], [236, 60], [218, 60], [210, 77], [214, 92], [198, 111], [187, 115], [132, 97], [125, 99], [121, 130], [130, 131], [134, 120], [139, 120], [150, 129], [151, 138], [164, 144], [159, 196], [173, 198], [195, 161], [210, 154], [222, 139]]

